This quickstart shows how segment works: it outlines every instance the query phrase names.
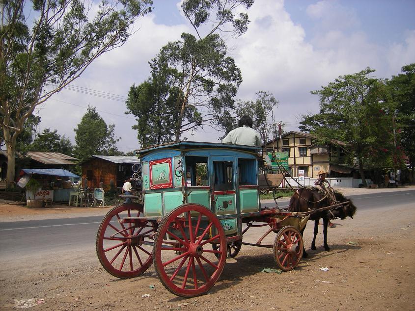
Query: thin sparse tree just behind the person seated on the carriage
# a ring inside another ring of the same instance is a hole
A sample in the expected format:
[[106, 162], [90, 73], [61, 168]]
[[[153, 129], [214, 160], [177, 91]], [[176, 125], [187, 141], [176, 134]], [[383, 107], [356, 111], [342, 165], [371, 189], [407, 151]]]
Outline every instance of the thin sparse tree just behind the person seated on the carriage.
[[238, 117], [249, 115], [255, 130], [261, 135], [261, 140], [266, 143], [270, 132], [273, 137], [277, 135], [273, 109], [278, 107], [279, 103], [270, 92], [258, 91], [255, 94], [257, 96], [255, 101], [238, 101], [236, 114]]

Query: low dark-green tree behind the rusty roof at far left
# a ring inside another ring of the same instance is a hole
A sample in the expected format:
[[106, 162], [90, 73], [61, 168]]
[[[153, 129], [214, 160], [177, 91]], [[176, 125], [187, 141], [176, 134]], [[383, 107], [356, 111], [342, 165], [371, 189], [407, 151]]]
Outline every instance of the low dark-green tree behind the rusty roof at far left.
[[49, 128], [39, 133], [29, 148], [31, 151], [59, 152], [67, 156], [72, 155], [71, 141], [65, 135], [60, 136], [57, 130], [51, 131]]

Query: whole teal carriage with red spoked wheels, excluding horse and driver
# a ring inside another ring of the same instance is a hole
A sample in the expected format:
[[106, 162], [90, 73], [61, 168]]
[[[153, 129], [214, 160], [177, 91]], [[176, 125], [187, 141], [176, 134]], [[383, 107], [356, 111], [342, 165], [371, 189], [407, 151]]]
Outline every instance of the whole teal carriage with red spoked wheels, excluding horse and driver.
[[[193, 297], [243, 244], [272, 248], [281, 270], [298, 265], [309, 214], [261, 208], [257, 147], [181, 141], [138, 152], [139, 202], [111, 209], [97, 234], [98, 258], [113, 276], [137, 277], [154, 262], [169, 291]], [[251, 227], [267, 229], [256, 243], [243, 241]], [[272, 232], [274, 243], [262, 244]]]

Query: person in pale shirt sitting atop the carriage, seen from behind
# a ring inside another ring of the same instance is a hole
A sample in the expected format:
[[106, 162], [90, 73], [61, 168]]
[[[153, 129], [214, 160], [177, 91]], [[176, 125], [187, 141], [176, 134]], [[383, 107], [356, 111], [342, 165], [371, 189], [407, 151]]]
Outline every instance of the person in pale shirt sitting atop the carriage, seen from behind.
[[238, 122], [238, 128], [231, 130], [225, 138], [223, 144], [248, 145], [261, 147], [261, 138], [259, 133], [252, 129], [253, 121], [248, 115], [244, 115]]

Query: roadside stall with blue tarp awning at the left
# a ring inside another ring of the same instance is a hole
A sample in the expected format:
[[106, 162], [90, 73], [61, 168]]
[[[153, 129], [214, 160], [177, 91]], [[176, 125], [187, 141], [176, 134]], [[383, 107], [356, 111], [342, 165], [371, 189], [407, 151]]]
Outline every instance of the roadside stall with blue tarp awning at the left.
[[80, 176], [64, 169], [35, 168], [22, 169], [19, 186], [26, 187], [26, 200], [51, 200], [69, 202], [72, 183]]

